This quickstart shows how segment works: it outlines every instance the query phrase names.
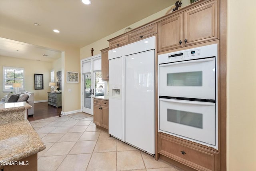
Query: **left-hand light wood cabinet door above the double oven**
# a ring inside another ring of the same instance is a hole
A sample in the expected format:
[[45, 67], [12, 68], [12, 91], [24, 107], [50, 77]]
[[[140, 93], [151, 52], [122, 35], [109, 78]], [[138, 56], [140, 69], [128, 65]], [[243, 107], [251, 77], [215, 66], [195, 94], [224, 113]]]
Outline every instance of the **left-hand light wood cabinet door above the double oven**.
[[158, 23], [158, 52], [180, 48], [183, 45], [183, 14]]

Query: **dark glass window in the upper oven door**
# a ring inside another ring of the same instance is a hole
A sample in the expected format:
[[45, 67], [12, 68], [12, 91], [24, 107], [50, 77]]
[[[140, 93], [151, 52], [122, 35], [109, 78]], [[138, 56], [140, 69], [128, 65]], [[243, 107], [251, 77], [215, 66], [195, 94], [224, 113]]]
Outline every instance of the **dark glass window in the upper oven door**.
[[202, 86], [202, 71], [169, 73], [167, 86]]

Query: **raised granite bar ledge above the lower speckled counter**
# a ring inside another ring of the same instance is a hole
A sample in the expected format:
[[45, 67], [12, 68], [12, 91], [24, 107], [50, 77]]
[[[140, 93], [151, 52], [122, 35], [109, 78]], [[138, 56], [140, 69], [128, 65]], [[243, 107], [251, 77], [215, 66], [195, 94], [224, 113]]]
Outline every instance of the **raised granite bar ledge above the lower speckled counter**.
[[0, 103], [0, 113], [5, 111], [18, 111], [22, 109], [30, 109], [32, 106], [22, 102], [12, 102], [12, 103]]

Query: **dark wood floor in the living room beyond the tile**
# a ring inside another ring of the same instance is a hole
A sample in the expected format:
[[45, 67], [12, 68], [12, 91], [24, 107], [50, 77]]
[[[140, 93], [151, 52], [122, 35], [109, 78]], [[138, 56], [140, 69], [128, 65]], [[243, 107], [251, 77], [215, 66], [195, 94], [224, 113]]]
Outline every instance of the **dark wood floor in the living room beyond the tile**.
[[48, 102], [34, 103], [34, 115], [28, 117], [28, 121], [58, 116], [60, 115], [60, 112], [61, 107], [56, 108], [52, 105], [48, 105]]

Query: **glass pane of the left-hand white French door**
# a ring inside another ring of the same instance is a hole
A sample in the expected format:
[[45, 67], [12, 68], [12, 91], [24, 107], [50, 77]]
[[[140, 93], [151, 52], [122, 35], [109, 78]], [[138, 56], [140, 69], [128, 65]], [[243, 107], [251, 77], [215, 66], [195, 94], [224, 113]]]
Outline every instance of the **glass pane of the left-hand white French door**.
[[84, 107], [91, 109], [91, 74], [84, 74]]

